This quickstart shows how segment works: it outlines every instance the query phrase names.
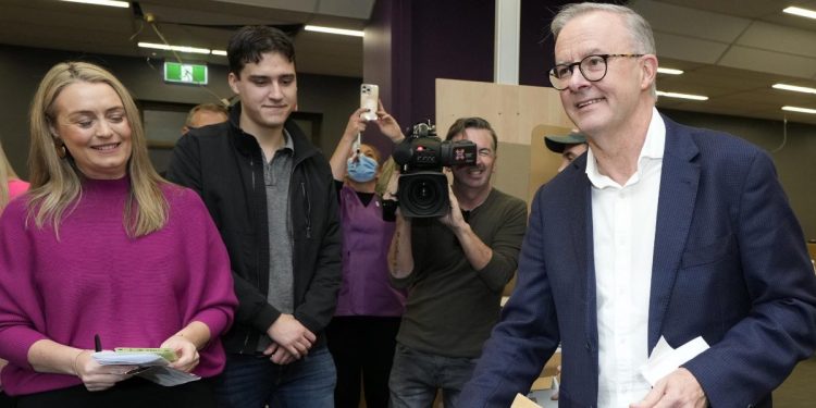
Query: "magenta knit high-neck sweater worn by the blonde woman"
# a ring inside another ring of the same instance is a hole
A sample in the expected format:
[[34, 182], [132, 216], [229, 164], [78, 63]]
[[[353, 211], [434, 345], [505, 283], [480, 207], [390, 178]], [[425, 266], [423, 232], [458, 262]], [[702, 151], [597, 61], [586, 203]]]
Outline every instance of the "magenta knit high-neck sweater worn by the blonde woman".
[[42, 338], [92, 349], [158, 347], [191, 321], [212, 335], [194, 370], [218, 374], [224, 366], [219, 336], [237, 305], [224, 244], [200, 198], [164, 185], [166, 225], [129, 238], [122, 219], [129, 178], [86, 181], [78, 206], [60, 225], [26, 226], [26, 201], [0, 217], [0, 357], [11, 395], [79, 384], [73, 375], [35, 372], [28, 349]]

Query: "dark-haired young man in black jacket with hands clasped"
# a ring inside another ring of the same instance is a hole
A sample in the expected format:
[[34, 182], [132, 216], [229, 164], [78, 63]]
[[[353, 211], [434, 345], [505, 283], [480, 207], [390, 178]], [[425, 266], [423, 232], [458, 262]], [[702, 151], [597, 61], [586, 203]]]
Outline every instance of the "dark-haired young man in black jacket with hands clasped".
[[289, 120], [295, 51], [282, 32], [239, 29], [227, 47], [240, 98], [225, 123], [190, 131], [171, 181], [196, 189], [226, 244], [239, 300], [217, 381], [224, 407], [333, 407], [323, 329], [341, 285], [337, 199], [325, 158]]

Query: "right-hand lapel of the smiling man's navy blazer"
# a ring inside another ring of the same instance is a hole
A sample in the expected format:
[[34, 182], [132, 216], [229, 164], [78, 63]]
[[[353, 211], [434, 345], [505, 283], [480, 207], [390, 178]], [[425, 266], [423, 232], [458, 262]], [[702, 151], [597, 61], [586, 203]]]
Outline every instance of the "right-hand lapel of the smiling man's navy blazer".
[[[663, 154], [660, 193], [657, 201], [652, 292], [648, 307], [648, 353], [657, 344], [662, 324], [680, 268], [700, 183], [700, 150], [689, 129], [663, 116], [666, 147]], [[672, 345], [678, 347], [680, 345]]]

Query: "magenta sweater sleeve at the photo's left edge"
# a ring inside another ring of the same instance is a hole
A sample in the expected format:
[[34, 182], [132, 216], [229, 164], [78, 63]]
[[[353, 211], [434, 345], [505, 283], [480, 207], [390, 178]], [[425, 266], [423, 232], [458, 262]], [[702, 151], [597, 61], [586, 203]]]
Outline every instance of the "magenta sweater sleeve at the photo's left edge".
[[0, 217], [0, 356], [30, 369], [28, 349], [47, 336], [40, 332], [45, 316], [33, 279], [34, 243], [24, 201], [11, 202]]

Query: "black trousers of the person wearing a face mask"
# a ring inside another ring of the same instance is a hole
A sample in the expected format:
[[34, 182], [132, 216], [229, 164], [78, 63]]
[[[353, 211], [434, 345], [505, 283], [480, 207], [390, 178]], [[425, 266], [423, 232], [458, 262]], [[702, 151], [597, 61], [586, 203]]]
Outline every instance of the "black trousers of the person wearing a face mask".
[[360, 387], [366, 407], [388, 406], [388, 375], [394, 361], [400, 318], [335, 317], [326, 327], [329, 350], [337, 366], [337, 408], [360, 406]]

